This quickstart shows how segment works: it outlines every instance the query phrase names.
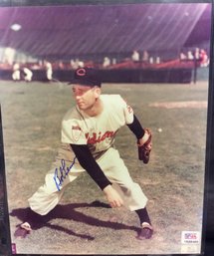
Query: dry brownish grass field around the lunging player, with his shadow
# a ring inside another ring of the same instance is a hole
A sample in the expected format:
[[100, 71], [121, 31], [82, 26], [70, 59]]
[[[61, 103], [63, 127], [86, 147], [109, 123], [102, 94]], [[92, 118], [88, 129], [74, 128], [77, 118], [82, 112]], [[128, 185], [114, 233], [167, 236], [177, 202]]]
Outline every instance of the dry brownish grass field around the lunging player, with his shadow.
[[[201, 232], [207, 115], [206, 82], [196, 85], [109, 84], [153, 132], [149, 164], [137, 160], [128, 128], [116, 146], [132, 178], [149, 198], [155, 229], [151, 240], [135, 238], [138, 219], [124, 208], [111, 209], [87, 173], [68, 187], [61, 203], [25, 239], [14, 237], [60, 143], [61, 120], [74, 105], [61, 83], [0, 82], [11, 239], [26, 254], [179, 254], [198, 253], [199, 244], [182, 244], [181, 233]], [[199, 238], [200, 240], [200, 238]], [[14, 248], [15, 248], [14, 247]]]

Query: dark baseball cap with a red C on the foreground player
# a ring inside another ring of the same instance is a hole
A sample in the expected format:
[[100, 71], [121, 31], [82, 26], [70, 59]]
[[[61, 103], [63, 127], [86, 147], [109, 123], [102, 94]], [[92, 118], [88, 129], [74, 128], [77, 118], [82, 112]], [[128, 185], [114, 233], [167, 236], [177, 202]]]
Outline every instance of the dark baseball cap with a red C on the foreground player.
[[75, 71], [74, 79], [69, 83], [72, 84], [79, 84], [83, 86], [102, 86], [101, 79], [99, 77], [99, 72], [93, 68], [78, 68]]

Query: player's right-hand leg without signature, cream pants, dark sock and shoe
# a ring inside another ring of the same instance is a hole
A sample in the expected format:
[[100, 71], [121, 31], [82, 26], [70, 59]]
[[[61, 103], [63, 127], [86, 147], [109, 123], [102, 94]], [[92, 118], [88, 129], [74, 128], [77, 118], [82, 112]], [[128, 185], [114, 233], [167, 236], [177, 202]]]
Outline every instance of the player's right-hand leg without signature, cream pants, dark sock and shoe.
[[118, 151], [114, 148], [110, 148], [107, 150], [107, 154], [100, 159], [99, 163], [102, 165], [105, 174], [113, 183], [115, 189], [123, 198], [124, 205], [129, 210], [137, 213], [142, 227], [138, 238], [150, 238], [153, 233], [153, 228], [145, 207], [147, 197], [142, 192], [140, 186], [133, 182]]

